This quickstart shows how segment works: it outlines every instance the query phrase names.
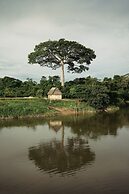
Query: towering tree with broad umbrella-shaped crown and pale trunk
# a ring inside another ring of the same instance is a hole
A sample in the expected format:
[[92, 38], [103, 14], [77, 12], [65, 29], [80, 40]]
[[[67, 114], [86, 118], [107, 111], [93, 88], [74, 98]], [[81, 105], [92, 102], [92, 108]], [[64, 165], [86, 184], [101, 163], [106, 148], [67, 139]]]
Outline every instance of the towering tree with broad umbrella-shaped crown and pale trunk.
[[36, 45], [34, 52], [28, 55], [29, 63], [38, 63], [52, 69], [61, 67], [61, 85], [64, 86], [64, 65], [68, 72], [81, 73], [89, 69], [89, 64], [96, 55], [92, 49], [75, 42], [60, 39], [49, 40]]

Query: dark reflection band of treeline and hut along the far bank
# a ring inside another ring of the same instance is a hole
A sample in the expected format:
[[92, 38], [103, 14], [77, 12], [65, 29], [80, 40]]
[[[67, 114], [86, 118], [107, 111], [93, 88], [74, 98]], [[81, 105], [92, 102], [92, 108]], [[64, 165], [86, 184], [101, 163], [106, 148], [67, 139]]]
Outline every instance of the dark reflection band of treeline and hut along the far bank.
[[[58, 121], [58, 122], [57, 122]], [[44, 125], [48, 123], [50, 128], [56, 132], [62, 128], [70, 127], [72, 133], [78, 135], [86, 135], [90, 138], [98, 138], [101, 135], [117, 135], [117, 129], [124, 125], [129, 126], [129, 110], [123, 109], [115, 113], [99, 113], [92, 116], [78, 115], [53, 117], [49, 119], [24, 119], [24, 120], [6, 120], [0, 122], [0, 129], [11, 126], [26, 126], [35, 128], [36, 125]]]

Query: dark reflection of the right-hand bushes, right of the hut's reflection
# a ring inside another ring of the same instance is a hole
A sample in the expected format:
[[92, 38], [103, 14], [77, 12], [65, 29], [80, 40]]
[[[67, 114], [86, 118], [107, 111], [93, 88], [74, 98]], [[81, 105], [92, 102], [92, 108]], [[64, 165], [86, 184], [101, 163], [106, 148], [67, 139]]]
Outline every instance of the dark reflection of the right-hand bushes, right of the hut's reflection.
[[[59, 118], [56, 118], [59, 119]], [[129, 111], [126, 109], [115, 113], [99, 113], [93, 116], [64, 117], [64, 126], [70, 127], [78, 135], [98, 138], [101, 135], [117, 135], [117, 129], [129, 125]]]

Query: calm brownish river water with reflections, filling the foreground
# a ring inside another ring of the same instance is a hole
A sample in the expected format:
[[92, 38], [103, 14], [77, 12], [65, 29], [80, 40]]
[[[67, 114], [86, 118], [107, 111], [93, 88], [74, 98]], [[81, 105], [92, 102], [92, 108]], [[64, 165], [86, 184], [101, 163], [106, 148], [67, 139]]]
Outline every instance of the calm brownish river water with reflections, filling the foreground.
[[0, 122], [0, 194], [128, 194], [129, 111]]

